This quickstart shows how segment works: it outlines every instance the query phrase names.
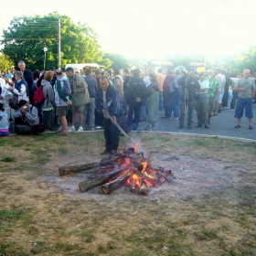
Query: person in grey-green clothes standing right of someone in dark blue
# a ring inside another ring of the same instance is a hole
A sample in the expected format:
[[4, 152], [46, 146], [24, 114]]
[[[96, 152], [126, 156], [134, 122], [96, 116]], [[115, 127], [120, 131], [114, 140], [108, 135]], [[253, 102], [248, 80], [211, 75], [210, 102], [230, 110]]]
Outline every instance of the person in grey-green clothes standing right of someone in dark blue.
[[147, 131], [155, 131], [155, 125], [158, 121], [159, 113], [159, 87], [154, 84], [152, 87], [152, 93], [145, 102], [147, 110]]

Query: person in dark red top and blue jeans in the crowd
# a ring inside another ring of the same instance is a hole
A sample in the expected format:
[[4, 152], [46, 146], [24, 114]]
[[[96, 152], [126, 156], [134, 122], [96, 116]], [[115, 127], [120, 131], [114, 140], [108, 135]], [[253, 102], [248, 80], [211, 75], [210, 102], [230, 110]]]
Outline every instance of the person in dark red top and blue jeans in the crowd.
[[166, 77], [163, 83], [163, 100], [164, 100], [165, 115], [162, 117], [163, 119], [167, 119], [171, 117], [170, 86], [172, 81], [175, 79], [175, 76], [172, 74], [171, 69], [166, 69], [165, 74], [166, 74]]

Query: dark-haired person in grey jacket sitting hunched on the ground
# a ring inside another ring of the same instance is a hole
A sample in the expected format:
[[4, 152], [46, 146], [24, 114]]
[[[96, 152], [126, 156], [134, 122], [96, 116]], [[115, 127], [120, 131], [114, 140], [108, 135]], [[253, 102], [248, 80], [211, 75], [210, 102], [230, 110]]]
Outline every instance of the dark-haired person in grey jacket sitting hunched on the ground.
[[38, 133], [39, 117], [37, 108], [27, 101], [20, 100], [18, 102], [20, 109], [14, 113], [17, 134], [33, 134]]

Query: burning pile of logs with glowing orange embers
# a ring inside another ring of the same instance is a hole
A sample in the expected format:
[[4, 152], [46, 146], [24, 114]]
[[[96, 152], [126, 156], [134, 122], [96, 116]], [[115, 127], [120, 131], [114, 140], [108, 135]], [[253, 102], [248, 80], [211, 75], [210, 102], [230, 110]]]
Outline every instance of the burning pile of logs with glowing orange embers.
[[79, 183], [80, 192], [101, 186], [104, 195], [120, 187], [130, 187], [131, 193], [147, 195], [150, 187], [159, 187], [171, 170], [152, 165], [153, 155], [145, 158], [144, 153], [136, 152], [136, 147], [129, 147], [116, 155], [109, 155], [97, 163], [59, 167], [59, 176], [76, 173], [90, 174]]

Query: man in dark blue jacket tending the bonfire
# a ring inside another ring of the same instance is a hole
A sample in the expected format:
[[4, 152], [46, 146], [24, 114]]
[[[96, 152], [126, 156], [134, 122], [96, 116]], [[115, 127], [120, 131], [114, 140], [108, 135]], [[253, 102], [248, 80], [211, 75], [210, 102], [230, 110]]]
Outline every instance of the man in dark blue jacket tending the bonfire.
[[119, 123], [122, 114], [122, 102], [118, 91], [110, 84], [107, 76], [101, 77], [100, 86], [96, 93], [96, 110], [103, 114], [108, 112], [112, 116], [112, 120], [105, 117], [103, 121], [106, 143], [105, 150], [101, 155], [115, 155], [119, 145], [120, 131], [112, 122]]

